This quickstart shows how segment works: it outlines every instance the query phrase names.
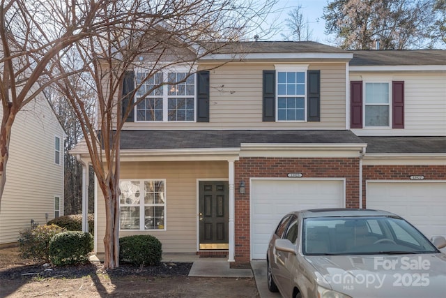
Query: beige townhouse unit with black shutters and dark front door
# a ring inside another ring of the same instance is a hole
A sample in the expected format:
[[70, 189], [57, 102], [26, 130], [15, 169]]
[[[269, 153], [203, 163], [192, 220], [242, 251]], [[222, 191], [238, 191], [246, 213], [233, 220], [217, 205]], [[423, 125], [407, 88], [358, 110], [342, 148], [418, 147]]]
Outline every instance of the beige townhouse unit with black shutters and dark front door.
[[[121, 137], [121, 236], [153, 234], [165, 253], [248, 262], [266, 258], [270, 234], [290, 210], [369, 207], [367, 187], [378, 185], [367, 169], [374, 151], [366, 135], [353, 132], [371, 130], [350, 129], [351, 84], [361, 76], [354, 55], [313, 42], [237, 43], [201, 59], [185, 82], [144, 98]], [[146, 87], [185, 75], [167, 70]], [[444, 70], [438, 75], [444, 80]], [[82, 146], [72, 153], [88, 161]], [[443, 165], [433, 170], [444, 173], [445, 160], [443, 151]], [[98, 188], [95, 197], [95, 251], [102, 253]]]

